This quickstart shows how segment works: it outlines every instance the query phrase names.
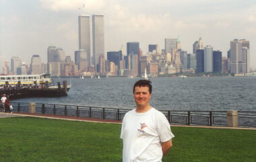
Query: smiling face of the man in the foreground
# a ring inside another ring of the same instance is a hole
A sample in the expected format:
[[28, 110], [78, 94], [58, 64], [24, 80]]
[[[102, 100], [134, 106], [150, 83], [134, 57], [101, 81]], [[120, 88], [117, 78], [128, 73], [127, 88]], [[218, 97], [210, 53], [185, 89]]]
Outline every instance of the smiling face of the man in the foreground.
[[137, 104], [137, 107], [139, 108], [145, 108], [150, 104], [150, 91], [149, 87], [135, 87], [134, 93], [133, 93], [135, 102]]

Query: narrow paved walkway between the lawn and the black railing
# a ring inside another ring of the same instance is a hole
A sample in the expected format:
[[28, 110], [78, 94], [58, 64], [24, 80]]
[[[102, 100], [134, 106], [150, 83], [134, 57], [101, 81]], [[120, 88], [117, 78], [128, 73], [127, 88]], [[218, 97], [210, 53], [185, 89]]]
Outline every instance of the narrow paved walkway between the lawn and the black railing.
[[[25, 113], [25, 112], [14, 112], [12, 114], [0, 112], [0, 118], [9, 117], [36, 117], [36, 118], [49, 118], [58, 120], [71, 120], [80, 122], [100, 122], [100, 123], [111, 123], [111, 124], [121, 124], [122, 121], [117, 120], [103, 120], [98, 118], [84, 118], [76, 116], [61, 116], [52, 114], [38, 114], [38, 113]], [[170, 125], [171, 127], [192, 127], [192, 128], [214, 128], [214, 129], [236, 129], [236, 130], [256, 130], [256, 128], [245, 128], [245, 127], [228, 127], [228, 126], [188, 126], [188, 125]]]

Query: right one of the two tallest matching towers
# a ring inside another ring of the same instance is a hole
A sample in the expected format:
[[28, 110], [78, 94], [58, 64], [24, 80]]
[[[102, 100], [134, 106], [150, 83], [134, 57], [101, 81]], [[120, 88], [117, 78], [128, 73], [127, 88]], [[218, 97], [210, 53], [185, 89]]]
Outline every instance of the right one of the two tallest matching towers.
[[[93, 65], [98, 67], [99, 58], [104, 56], [104, 15], [92, 15], [92, 46], [93, 46]], [[96, 68], [99, 72], [99, 69]]]

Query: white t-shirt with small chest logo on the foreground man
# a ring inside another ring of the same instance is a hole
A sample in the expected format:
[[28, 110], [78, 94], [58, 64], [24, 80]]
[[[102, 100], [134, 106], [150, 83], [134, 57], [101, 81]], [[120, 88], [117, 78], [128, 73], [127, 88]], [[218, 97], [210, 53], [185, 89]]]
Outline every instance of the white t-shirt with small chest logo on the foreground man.
[[123, 118], [123, 161], [162, 161], [162, 143], [173, 137], [162, 112], [151, 108], [148, 112], [137, 113], [133, 109]]

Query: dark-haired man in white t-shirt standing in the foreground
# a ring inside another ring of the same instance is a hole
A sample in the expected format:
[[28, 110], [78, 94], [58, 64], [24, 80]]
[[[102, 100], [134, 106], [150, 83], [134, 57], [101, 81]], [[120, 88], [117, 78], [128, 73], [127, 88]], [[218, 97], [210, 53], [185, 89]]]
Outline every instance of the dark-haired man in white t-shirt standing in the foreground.
[[170, 124], [150, 106], [151, 93], [151, 81], [139, 80], [133, 86], [137, 107], [125, 114], [121, 130], [124, 162], [162, 161], [172, 147]]

